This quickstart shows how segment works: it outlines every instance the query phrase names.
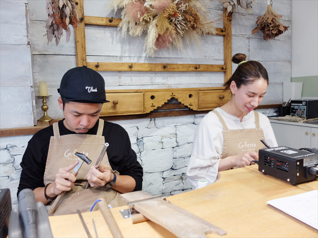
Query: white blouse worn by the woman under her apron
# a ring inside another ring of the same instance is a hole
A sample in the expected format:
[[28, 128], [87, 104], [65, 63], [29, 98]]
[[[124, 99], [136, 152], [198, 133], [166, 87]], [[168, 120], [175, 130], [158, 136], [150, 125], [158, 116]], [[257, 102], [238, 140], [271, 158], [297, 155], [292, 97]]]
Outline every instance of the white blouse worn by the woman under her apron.
[[[255, 128], [254, 112], [250, 112], [243, 117], [242, 122], [235, 116], [232, 116], [221, 108], [216, 108], [225, 120], [229, 130], [251, 129]], [[266, 143], [270, 147], [276, 147], [277, 141], [270, 125], [269, 119], [261, 113], [259, 114], [259, 125], [263, 129]], [[196, 188], [198, 180], [205, 179], [208, 184], [215, 182], [219, 171], [219, 163], [223, 151], [224, 130], [218, 117], [210, 112], [199, 124], [195, 131], [192, 155], [187, 169], [187, 178], [192, 186]]]

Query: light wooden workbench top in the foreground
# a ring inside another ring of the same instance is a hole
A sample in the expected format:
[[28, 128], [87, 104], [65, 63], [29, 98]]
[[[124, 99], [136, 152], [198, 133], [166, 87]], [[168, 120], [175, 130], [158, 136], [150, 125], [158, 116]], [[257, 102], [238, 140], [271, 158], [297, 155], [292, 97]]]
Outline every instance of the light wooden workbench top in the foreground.
[[[267, 201], [318, 189], [318, 181], [293, 186], [287, 182], [265, 176], [257, 165], [221, 172], [221, 178], [207, 187], [169, 196], [167, 200], [222, 228], [224, 237], [318, 237], [317, 231], [296, 219], [277, 212]], [[111, 209], [124, 237], [175, 237], [148, 221], [132, 224], [119, 210]], [[92, 237], [94, 219], [99, 238], [112, 237], [100, 211], [82, 214]], [[54, 237], [87, 237], [77, 214], [49, 217]], [[220, 237], [208, 234], [207, 237]]]

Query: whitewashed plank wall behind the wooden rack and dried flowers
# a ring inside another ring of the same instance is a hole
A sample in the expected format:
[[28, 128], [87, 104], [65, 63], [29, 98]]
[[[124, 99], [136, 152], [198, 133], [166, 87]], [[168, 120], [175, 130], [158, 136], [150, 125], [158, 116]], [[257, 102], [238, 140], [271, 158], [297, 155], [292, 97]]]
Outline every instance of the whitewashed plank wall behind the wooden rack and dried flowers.
[[[84, 14], [102, 17], [121, 17], [121, 10], [116, 13], [107, 8], [109, 0], [84, 0]], [[267, 68], [270, 77], [267, 95], [263, 104], [282, 102], [282, 83], [290, 81], [291, 71], [291, 28], [281, 36], [268, 42], [264, 41], [261, 32], [252, 35], [256, 18], [266, 11], [266, 0], [255, 0], [253, 14], [239, 8], [233, 14], [232, 21], [232, 53], [243, 53], [247, 60], [258, 60]], [[75, 38], [69, 43], [65, 37], [59, 46], [55, 43], [47, 45], [45, 35], [45, 1], [29, 0], [31, 51], [33, 55], [33, 77], [35, 94], [38, 95], [38, 81], [47, 81], [49, 92], [53, 96], [48, 99], [48, 114], [53, 118], [63, 117], [56, 103], [59, 94], [60, 80], [63, 74], [76, 66]], [[285, 25], [291, 25], [291, 0], [275, 0], [273, 8], [283, 15]], [[210, 17], [217, 19], [222, 14], [223, 5], [211, 1], [208, 6]], [[216, 23], [223, 26], [222, 21]], [[200, 50], [196, 46], [184, 43], [182, 52], [176, 49], [161, 50], [155, 58], [145, 57], [144, 39], [121, 37], [121, 31], [115, 27], [85, 26], [87, 61], [100, 62], [156, 62], [156, 63], [224, 63], [223, 37], [202, 36]], [[237, 65], [233, 64], [233, 71]], [[182, 87], [213, 87], [221, 86], [224, 74], [220, 72], [100, 72], [105, 79], [107, 89], [138, 89], [138, 88], [182, 88]], [[37, 118], [42, 117], [36, 99]]]

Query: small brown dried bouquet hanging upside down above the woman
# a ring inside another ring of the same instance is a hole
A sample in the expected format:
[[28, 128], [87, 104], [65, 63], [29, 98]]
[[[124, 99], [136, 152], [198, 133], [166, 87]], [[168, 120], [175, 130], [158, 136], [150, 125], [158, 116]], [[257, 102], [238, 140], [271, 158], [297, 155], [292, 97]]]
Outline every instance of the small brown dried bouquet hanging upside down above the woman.
[[287, 31], [289, 26], [284, 26], [280, 22], [279, 18], [282, 18], [282, 16], [278, 15], [270, 5], [267, 5], [265, 14], [257, 17], [257, 26], [252, 31], [252, 34], [255, 34], [258, 30], [260, 30], [263, 33], [265, 41], [283, 34]]

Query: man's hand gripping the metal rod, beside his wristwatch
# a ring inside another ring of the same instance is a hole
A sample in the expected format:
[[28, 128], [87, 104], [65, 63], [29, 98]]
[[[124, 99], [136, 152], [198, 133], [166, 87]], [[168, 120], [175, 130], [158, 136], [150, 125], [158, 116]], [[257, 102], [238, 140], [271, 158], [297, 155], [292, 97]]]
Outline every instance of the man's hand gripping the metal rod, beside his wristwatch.
[[106, 183], [114, 179], [114, 175], [110, 172], [109, 165], [100, 165], [99, 170], [94, 166], [88, 171], [86, 178], [92, 187], [104, 186]]

